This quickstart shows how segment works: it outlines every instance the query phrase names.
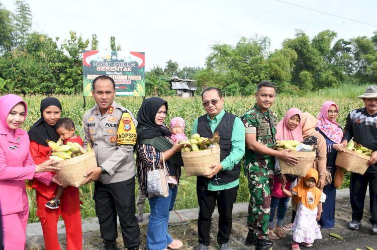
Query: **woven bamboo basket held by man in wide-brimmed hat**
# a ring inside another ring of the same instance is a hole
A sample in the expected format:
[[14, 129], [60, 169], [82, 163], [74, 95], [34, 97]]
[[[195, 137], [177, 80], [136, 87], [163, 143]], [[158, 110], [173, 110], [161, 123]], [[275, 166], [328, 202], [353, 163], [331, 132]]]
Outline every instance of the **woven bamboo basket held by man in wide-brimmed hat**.
[[370, 156], [357, 153], [348, 148], [344, 150], [345, 152], [337, 153], [335, 165], [352, 173], [364, 174], [368, 168], [366, 163], [370, 159]]

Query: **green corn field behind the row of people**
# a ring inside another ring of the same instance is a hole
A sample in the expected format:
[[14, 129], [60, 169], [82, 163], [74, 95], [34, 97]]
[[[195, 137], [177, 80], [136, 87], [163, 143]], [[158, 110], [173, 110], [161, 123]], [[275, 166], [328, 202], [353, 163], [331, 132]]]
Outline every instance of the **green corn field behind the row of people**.
[[[303, 112], [309, 112], [317, 117], [318, 112], [323, 102], [331, 100], [339, 106], [338, 123], [344, 127], [345, 120], [349, 111], [363, 106], [360, 99], [356, 99], [356, 95], [360, 95], [364, 92], [365, 88], [360, 87], [360, 91], [350, 97], [334, 97], [330, 98], [330, 95], [316, 95], [311, 94], [306, 97], [292, 97], [292, 96], [277, 96], [272, 106], [272, 110], [278, 116], [278, 119], [282, 119], [288, 109], [292, 107], [299, 108]], [[95, 102], [91, 97], [86, 97], [86, 108], [83, 108], [82, 96], [63, 96], [56, 95], [62, 104], [62, 117], [68, 117], [75, 122], [76, 133], [83, 138], [82, 129], [82, 117], [86, 110], [91, 108]], [[40, 118], [39, 105], [41, 100], [45, 96], [25, 96], [24, 100], [28, 104], [28, 117], [23, 124], [23, 129], [28, 130], [34, 122]], [[190, 99], [182, 99], [180, 97], [166, 97], [164, 98], [168, 102], [168, 114], [166, 117], [166, 124], [170, 119], [176, 116], [182, 117], [185, 120], [185, 134], [190, 136], [192, 125], [194, 120], [199, 116], [205, 114], [200, 96], [196, 96]], [[116, 101], [122, 106], [128, 108], [136, 116], [137, 111], [141, 105], [142, 98], [140, 97], [117, 97]], [[237, 116], [241, 116], [244, 112], [250, 109], [255, 103], [255, 97], [224, 97], [224, 109]], [[196, 177], [187, 177], [184, 172], [184, 168], [180, 185], [178, 188], [178, 195], [176, 198], [175, 209], [185, 209], [198, 207], [197, 195], [196, 195]], [[242, 171], [241, 171], [242, 172]], [[347, 176], [345, 179], [345, 185], [348, 185]], [[80, 198], [83, 201], [81, 205], [82, 218], [95, 217], [95, 204], [92, 199], [94, 185], [93, 183], [86, 184], [80, 187]], [[136, 188], [137, 189], [137, 188]], [[137, 190], [136, 193], [137, 194]], [[29, 222], [38, 221], [36, 214], [35, 203], [35, 190], [28, 190], [29, 204], [30, 204], [30, 216]], [[238, 191], [237, 202], [247, 201], [249, 197], [247, 179], [241, 173], [240, 187]], [[149, 211], [149, 205], [146, 202], [145, 211]]]

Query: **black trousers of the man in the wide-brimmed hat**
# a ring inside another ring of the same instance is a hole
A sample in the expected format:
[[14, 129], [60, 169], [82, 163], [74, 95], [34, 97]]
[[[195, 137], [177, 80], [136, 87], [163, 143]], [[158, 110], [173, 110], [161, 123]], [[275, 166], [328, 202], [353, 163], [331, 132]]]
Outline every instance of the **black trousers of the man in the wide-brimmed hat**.
[[352, 219], [360, 221], [364, 210], [366, 188], [369, 185], [370, 223], [377, 224], [377, 173], [365, 172], [363, 175], [351, 173], [349, 194]]

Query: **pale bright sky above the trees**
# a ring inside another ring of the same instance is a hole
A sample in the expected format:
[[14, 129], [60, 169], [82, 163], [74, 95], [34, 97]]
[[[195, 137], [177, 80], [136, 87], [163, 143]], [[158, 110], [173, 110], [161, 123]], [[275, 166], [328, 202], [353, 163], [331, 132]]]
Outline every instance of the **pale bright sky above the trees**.
[[[99, 1], [28, 0], [33, 30], [69, 39], [74, 31], [84, 39], [96, 34], [99, 50], [110, 50], [110, 37], [122, 51], [145, 52], [145, 69], [164, 68], [168, 60], [179, 68], [204, 67], [211, 45], [236, 45], [241, 37], [268, 37], [271, 51], [281, 48], [297, 29], [313, 38], [323, 30], [338, 39], [373, 36], [377, 31], [375, 0]], [[14, 12], [13, 0], [0, 0]], [[89, 48], [88, 48], [89, 49]]]

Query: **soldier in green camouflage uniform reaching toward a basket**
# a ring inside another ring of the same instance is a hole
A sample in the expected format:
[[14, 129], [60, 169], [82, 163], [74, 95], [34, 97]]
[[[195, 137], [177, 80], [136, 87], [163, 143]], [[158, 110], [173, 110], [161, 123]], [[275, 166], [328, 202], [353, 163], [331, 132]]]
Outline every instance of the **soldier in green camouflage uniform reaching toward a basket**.
[[[289, 155], [291, 150], [278, 152], [271, 149], [275, 143], [277, 117], [269, 108], [273, 104], [275, 93], [276, 87], [272, 83], [259, 83], [255, 94], [257, 103], [241, 116], [246, 133], [243, 166], [251, 195], [247, 217], [249, 233], [245, 244], [255, 245], [255, 249], [271, 249], [273, 245], [267, 239], [275, 157], [292, 164], [298, 162], [296, 157]], [[279, 180], [286, 181], [284, 175]]]

